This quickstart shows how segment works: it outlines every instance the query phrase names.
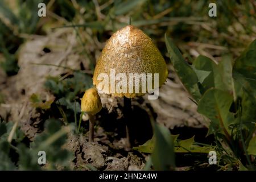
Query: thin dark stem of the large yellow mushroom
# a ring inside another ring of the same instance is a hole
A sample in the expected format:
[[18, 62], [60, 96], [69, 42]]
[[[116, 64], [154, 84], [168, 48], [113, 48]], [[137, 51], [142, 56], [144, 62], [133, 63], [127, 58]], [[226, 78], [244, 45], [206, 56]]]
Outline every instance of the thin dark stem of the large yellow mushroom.
[[126, 140], [127, 140], [127, 148], [131, 148], [131, 138], [129, 133], [129, 122], [130, 122], [130, 116], [131, 116], [131, 99], [127, 97], [123, 97], [123, 105], [124, 110], [123, 114], [125, 116], [125, 125], [126, 125]]

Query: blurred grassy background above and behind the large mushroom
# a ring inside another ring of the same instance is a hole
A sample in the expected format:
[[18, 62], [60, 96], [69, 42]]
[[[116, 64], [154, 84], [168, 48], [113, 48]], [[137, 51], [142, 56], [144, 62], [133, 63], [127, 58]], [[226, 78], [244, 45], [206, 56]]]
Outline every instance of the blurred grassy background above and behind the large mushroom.
[[[46, 3], [46, 17], [38, 16], [40, 2]], [[164, 34], [175, 40], [188, 60], [199, 54], [217, 61], [225, 52], [239, 55], [255, 38], [255, 1], [216, 1], [217, 17], [208, 16], [210, 2], [3, 0], [0, 2], [1, 66], [8, 76], [15, 75], [19, 70], [19, 47], [26, 40], [75, 30], [76, 51], [84, 55], [84, 64], [93, 68], [106, 40], [126, 26], [129, 18], [154, 40], [164, 56]]]

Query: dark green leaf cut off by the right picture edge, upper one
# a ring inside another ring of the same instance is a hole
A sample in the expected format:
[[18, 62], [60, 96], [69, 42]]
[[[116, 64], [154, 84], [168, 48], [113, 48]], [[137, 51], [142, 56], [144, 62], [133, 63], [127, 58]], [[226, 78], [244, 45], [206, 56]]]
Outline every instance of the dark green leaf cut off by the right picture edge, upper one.
[[[256, 121], [256, 40], [236, 59], [233, 67], [234, 88], [241, 99], [241, 119], [249, 133]], [[250, 135], [249, 134], [249, 135]]]

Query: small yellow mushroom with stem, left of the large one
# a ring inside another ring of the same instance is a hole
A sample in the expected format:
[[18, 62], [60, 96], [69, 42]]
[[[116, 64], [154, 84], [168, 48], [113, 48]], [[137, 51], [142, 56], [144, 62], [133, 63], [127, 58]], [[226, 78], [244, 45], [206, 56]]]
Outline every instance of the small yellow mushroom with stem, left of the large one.
[[[94, 123], [95, 116], [102, 109], [101, 98], [98, 95], [96, 88], [90, 88], [85, 91], [84, 96], [81, 100], [81, 111], [89, 115], [89, 142], [94, 140]], [[81, 117], [80, 117], [81, 118]], [[79, 122], [79, 128], [81, 124], [81, 119]]]

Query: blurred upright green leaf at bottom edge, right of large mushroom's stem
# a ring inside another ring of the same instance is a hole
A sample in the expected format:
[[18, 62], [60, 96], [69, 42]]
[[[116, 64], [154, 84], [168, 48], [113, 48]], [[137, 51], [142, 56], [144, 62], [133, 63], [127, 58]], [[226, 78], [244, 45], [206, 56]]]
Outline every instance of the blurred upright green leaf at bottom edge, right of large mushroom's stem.
[[152, 152], [152, 163], [156, 170], [170, 170], [175, 168], [174, 142], [170, 138], [170, 131], [155, 123], [155, 147]]

